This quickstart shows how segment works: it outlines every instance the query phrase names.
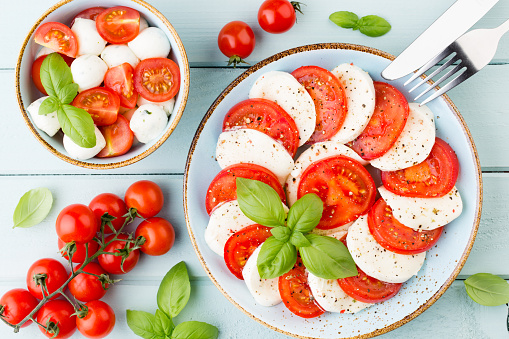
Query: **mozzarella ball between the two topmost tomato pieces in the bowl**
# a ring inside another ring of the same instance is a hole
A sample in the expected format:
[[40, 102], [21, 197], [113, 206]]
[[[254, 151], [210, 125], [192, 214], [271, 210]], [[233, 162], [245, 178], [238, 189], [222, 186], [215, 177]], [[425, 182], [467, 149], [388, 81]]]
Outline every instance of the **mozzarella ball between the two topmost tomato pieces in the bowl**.
[[106, 47], [106, 41], [97, 33], [94, 20], [76, 18], [71, 31], [78, 38], [78, 55], [99, 55]]

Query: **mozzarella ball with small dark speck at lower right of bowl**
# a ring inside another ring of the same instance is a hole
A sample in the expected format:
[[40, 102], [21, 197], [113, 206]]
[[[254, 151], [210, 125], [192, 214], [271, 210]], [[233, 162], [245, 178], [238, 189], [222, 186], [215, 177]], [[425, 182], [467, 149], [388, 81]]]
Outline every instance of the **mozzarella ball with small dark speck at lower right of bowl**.
[[129, 126], [138, 141], [146, 144], [164, 131], [167, 122], [168, 117], [161, 106], [147, 104], [134, 112]]

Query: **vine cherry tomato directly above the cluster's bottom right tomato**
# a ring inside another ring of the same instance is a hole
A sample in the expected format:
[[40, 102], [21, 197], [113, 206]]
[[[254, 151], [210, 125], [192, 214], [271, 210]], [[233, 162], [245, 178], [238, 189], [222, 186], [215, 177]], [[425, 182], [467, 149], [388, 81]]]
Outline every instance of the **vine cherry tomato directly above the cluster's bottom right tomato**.
[[[79, 270], [81, 266], [81, 264], [76, 266], [75, 271]], [[97, 276], [107, 274], [107, 272], [95, 262], [91, 262], [85, 266], [83, 272], [92, 273], [94, 275], [86, 273], [78, 274], [69, 282], [69, 285], [67, 285], [69, 292], [82, 302], [97, 300], [104, 297], [109, 286], [105, 284], [103, 287], [103, 284]]]

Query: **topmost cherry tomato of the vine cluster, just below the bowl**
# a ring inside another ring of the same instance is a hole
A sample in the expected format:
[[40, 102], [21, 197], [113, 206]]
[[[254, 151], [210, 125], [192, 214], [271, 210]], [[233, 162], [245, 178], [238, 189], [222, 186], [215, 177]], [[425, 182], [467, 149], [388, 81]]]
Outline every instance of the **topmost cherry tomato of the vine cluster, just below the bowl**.
[[136, 208], [142, 217], [151, 218], [163, 209], [164, 195], [155, 182], [140, 180], [129, 186], [124, 201], [129, 208]]

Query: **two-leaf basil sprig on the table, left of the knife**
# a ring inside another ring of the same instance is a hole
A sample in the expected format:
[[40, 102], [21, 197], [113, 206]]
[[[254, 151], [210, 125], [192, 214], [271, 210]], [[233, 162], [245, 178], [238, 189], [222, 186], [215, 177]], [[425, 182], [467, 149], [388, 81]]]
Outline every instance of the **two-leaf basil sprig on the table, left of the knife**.
[[366, 15], [359, 19], [355, 13], [339, 11], [332, 13], [329, 20], [340, 27], [359, 30], [370, 37], [379, 37], [391, 30], [391, 24], [378, 15]]

